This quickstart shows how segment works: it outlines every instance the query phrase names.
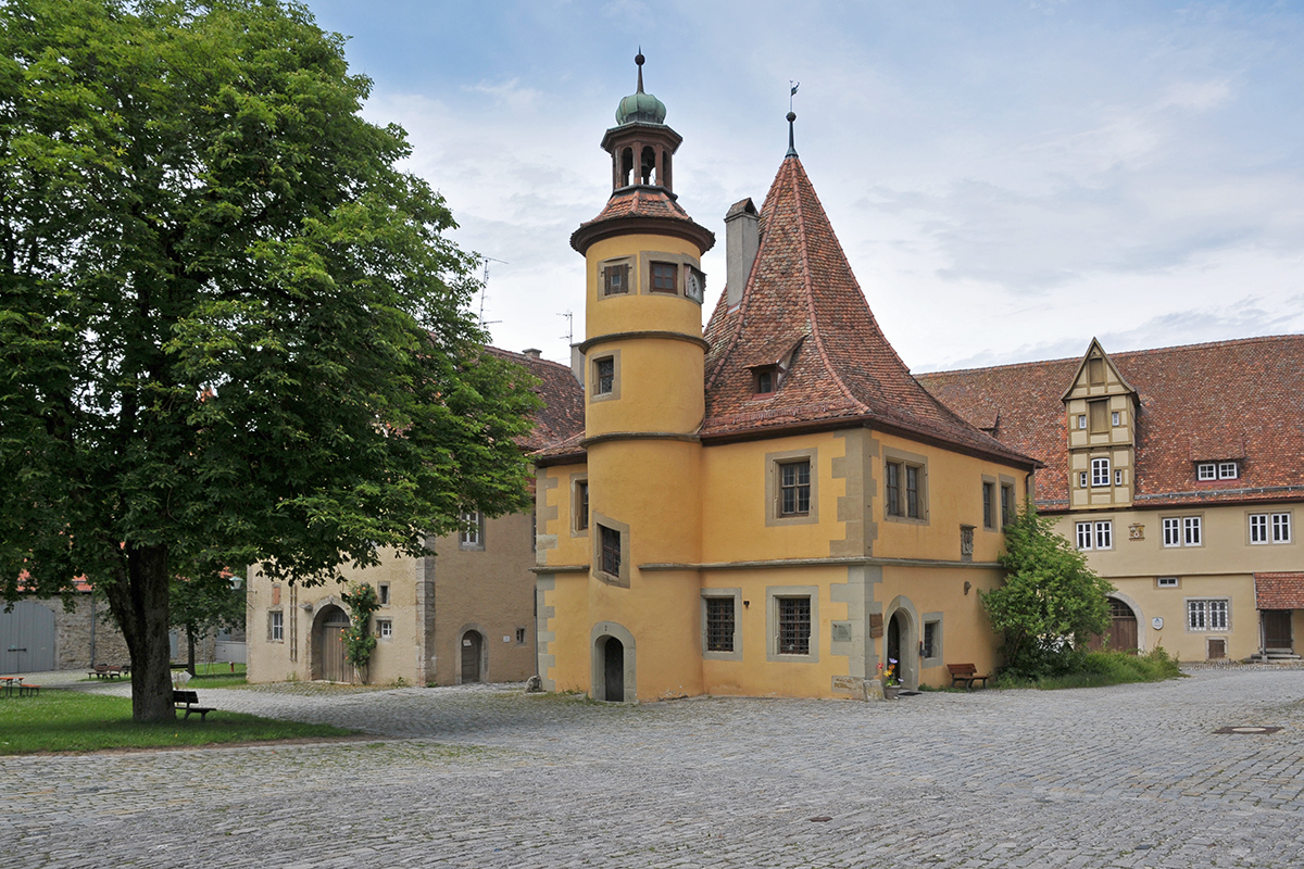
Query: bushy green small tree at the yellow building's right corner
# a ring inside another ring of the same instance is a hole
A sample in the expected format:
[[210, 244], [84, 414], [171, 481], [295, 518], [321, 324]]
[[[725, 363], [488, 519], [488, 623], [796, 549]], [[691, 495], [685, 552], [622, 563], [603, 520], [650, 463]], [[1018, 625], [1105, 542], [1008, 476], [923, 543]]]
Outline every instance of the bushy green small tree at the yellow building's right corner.
[[1004, 641], [1005, 671], [1035, 679], [1069, 668], [1076, 645], [1110, 627], [1114, 586], [1029, 504], [1005, 526], [1005, 582], [982, 593], [991, 627]]

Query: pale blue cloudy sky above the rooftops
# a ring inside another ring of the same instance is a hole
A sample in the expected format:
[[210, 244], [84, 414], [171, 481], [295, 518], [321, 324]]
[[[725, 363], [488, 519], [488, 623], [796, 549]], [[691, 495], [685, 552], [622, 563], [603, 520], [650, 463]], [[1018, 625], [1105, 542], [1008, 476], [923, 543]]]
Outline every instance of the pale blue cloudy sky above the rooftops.
[[647, 56], [717, 235], [797, 150], [915, 371], [1304, 332], [1304, 3], [309, 0], [490, 262], [501, 347], [583, 336], [570, 233]]

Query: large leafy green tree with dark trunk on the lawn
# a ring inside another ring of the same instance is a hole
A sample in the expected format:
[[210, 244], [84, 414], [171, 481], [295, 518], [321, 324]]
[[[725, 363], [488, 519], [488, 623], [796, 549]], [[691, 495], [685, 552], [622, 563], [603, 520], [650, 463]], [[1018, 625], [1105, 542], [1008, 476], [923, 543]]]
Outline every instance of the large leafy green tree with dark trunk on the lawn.
[[[343, 38], [279, 0], [0, 4], [0, 582], [78, 575], [172, 715], [168, 585], [524, 506], [524, 373]], [[20, 578], [23, 577], [23, 578]]]

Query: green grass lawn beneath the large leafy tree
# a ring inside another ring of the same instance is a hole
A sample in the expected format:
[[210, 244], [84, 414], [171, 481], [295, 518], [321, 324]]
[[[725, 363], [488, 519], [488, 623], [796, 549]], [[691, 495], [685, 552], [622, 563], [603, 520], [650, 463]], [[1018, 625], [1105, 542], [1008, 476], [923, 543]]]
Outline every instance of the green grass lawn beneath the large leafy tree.
[[[200, 681], [197, 688], [210, 687]], [[220, 704], [206, 705], [220, 706]], [[0, 754], [98, 752], [111, 748], [171, 748], [282, 739], [348, 736], [329, 724], [303, 724], [218, 709], [206, 722], [192, 715], [175, 722], [137, 724], [128, 697], [98, 692], [44, 689], [35, 697], [0, 700]]]

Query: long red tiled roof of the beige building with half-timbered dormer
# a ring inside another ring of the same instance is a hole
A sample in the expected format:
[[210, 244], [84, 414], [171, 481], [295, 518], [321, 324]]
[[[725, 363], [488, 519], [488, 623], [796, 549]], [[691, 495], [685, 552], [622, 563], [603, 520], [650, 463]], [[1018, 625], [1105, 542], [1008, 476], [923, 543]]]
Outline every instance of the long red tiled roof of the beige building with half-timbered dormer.
[[[1304, 335], [1111, 353], [1137, 391], [1137, 506], [1304, 499]], [[996, 438], [1046, 464], [1037, 499], [1068, 503], [1060, 403], [1081, 360], [922, 374], [974, 425], [999, 414]], [[1240, 460], [1237, 479], [1196, 481], [1194, 463]]]

